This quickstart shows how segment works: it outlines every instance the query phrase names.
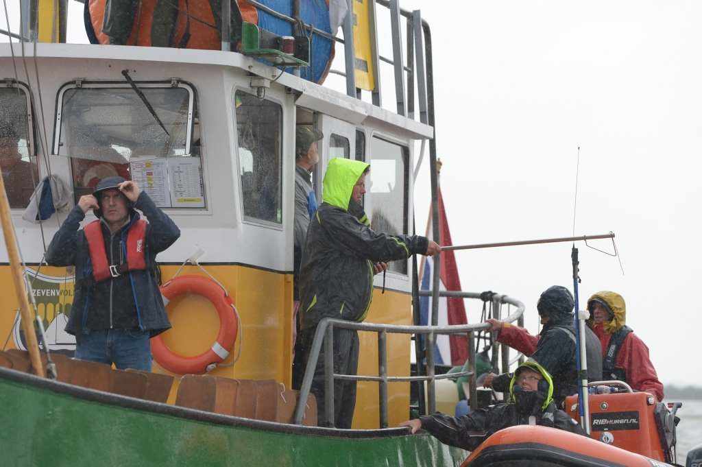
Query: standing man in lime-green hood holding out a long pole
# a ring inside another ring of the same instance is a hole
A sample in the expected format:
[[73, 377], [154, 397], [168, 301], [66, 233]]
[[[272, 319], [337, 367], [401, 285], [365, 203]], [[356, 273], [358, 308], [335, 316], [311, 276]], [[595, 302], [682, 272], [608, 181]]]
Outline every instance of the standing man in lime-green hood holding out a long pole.
[[[388, 235], [369, 227], [361, 202], [370, 166], [333, 158], [324, 174], [322, 205], [310, 219], [300, 265], [300, 329], [305, 362], [317, 324], [331, 317], [363, 321], [373, 297], [373, 275], [388, 261], [412, 254], [434, 256], [441, 246], [418, 235]], [[356, 374], [357, 331], [334, 329], [334, 373]], [[324, 346], [314, 369], [312, 393], [317, 397], [319, 426], [324, 426]], [[351, 428], [356, 404], [356, 381], [334, 382], [334, 424]]]

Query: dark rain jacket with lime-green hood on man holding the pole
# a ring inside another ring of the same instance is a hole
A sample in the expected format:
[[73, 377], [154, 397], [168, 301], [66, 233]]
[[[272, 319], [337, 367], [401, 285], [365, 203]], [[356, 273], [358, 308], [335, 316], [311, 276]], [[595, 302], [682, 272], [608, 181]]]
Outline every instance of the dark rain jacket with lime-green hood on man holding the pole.
[[379, 234], [361, 221], [365, 215], [351, 195], [368, 166], [333, 158], [326, 169], [324, 202], [312, 216], [303, 248], [300, 329], [325, 317], [363, 321], [371, 306], [373, 263], [427, 251], [426, 237]]

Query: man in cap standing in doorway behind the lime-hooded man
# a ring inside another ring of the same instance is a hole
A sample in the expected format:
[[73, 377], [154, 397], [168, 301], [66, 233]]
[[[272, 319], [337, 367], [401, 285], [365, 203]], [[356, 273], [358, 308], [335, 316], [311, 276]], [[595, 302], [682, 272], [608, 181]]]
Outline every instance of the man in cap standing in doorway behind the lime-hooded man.
[[299, 126], [295, 131], [295, 222], [294, 232], [294, 261], [293, 261], [293, 388], [299, 389], [302, 384], [305, 362], [302, 360], [300, 339], [300, 323], [298, 308], [300, 307], [300, 291], [298, 277], [300, 275], [300, 260], [310, 218], [317, 211], [317, 195], [312, 188], [312, 169], [319, 162], [319, 147], [317, 141], [324, 138], [322, 131], [307, 126]]

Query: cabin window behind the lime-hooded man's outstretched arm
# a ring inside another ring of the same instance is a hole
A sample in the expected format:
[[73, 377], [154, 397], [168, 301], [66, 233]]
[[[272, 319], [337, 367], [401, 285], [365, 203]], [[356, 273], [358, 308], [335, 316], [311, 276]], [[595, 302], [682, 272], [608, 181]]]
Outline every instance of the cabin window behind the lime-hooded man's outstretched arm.
[[[371, 140], [370, 183], [366, 179], [366, 213], [375, 232], [399, 235], [407, 232], [409, 151], [380, 138]], [[406, 261], [392, 261], [390, 270], [407, 273]]]

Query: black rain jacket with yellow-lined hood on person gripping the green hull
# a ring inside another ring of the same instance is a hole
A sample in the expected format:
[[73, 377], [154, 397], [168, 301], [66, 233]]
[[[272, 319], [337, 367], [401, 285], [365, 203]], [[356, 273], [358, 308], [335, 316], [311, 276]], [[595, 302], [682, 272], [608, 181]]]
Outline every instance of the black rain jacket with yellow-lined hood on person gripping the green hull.
[[447, 416], [441, 413], [420, 416], [422, 428], [427, 430], [445, 445], [451, 445], [472, 451], [494, 433], [517, 425], [529, 425], [529, 417], [534, 416], [533, 423], [550, 428], [558, 428], [570, 433], [587, 436], [577, 421], [567, 413], [556, 408], [550, 396], [553, 383], [538, 364], [526, 362], [522, 366], [539, 371], [546, 381], [547, 393], [534, 391], [538, 397], [533, 398], [531, 407], [518, 407], [515, 403], [517, 390], [516, 376], [510, 382], [510, 399], [506, 404], [496, 404], [484, 409], [477, 409], [465, 416]]

